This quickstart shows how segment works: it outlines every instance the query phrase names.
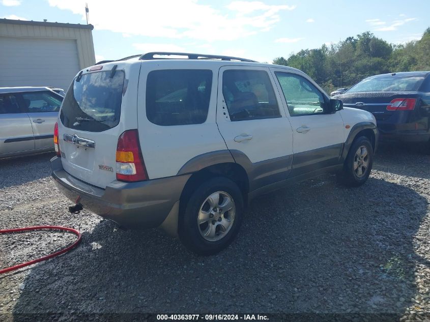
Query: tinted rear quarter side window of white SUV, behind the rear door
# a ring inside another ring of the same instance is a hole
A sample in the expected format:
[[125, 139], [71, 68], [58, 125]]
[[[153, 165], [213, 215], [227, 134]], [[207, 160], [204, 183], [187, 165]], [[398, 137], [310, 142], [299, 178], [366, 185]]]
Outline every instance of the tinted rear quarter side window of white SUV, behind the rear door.
[[211, 97], [210, 70], [156, 70], [148, 74], [146, 109], [150, 122], [169, 126], [202, 124]]

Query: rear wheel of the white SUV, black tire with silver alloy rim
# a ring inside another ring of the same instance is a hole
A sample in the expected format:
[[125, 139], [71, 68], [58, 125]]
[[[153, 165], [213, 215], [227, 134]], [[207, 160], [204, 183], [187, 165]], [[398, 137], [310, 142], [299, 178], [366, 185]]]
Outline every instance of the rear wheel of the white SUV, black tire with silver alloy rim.
[[242, 193], [233, 181], [209, 179], [186, 202], [178, 222], [179, 238], [185, 247], [198, 255], [213, 255], [230, 245], [243, 218]]

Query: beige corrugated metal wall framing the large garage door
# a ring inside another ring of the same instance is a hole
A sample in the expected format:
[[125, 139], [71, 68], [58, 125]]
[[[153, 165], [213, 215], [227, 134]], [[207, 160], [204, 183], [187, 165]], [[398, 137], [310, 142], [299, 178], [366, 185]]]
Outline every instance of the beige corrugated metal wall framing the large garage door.
[[79, 68], [83, 69], [96, 63], [93, 34], [92, 30], [88, 28], [0, 23], [0, 37], [2, 36], [75, 39]]

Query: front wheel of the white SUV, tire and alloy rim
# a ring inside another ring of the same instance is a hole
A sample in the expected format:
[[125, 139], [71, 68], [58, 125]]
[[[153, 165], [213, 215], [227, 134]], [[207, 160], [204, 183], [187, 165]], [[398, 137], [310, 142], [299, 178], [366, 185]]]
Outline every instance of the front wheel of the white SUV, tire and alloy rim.
[[[360, 154], [360, 156], [359, 156]], [[361, 159], [361, 157], [365, 156]], [[369, 178], [373, 165], [373, 147], [365, 136], [357, 137], [351, 145], [339, 181], [348, 187], [358, 187]]]

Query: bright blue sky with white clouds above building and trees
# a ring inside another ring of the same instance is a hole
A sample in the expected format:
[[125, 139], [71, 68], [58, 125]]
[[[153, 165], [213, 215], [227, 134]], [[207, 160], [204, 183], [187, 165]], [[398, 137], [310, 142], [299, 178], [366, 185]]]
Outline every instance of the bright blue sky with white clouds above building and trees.
[[429, 0], [0, 0], [0, 18], [86, 24], [85, 3], [96, 61], [180, 51], [271, 63], [366, 31], [405, 43], [430, 26]]

